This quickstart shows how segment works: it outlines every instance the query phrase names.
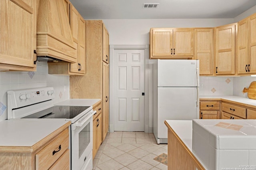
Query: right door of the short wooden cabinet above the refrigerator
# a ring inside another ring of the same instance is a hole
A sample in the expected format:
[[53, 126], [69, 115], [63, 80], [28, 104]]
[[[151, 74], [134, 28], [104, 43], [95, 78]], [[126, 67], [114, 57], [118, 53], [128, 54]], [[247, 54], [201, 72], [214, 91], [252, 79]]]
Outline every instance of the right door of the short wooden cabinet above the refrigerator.
[[173, 56], [194, 55], [193, 29], [173, 29]]

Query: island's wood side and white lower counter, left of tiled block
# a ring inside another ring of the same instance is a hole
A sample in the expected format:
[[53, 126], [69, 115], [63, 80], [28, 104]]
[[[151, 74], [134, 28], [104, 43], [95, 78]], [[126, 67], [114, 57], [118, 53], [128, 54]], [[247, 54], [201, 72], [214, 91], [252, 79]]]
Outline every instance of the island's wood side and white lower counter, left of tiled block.
[[192, 120], [165, 120], [168, 128], [168, 170], [206, 170], [192, 151]]

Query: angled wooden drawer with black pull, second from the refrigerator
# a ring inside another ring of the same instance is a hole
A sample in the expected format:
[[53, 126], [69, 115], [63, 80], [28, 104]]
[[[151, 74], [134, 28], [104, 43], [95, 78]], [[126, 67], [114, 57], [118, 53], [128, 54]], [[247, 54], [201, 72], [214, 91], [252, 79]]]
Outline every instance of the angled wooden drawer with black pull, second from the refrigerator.
[[231, 113], [232, 115], [236, 115], [246, 119], [246, 108], [234, 106], [226, 103], [222, 103], [221, 108], [222, 108], [222, 111], [226, 111], [228, 113]]

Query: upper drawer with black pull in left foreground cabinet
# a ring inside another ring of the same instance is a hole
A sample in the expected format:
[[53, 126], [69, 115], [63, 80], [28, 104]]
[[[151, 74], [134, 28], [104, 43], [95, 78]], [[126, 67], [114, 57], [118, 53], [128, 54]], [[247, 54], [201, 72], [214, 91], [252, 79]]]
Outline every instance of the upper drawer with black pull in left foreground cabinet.
[[68, 149], [69, 133], [64, 130], [54, 141], [36, 154], [36, 170], [49, 169]]

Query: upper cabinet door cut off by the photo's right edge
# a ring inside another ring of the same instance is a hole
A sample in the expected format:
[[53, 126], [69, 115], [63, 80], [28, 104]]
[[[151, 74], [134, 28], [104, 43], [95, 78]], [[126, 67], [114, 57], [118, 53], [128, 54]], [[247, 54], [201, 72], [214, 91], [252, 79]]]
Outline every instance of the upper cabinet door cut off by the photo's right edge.
[[248, 59], [250, 73], [256, 73], [256, 14], [249, 17]]

